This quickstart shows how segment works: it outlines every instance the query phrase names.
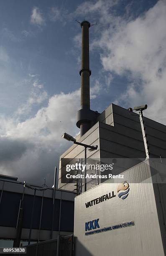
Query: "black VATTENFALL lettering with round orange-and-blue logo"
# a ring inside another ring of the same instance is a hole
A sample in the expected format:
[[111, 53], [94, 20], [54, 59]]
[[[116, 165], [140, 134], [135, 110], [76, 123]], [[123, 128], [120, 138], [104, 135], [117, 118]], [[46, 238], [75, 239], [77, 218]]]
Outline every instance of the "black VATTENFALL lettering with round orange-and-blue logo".
[[[125, 181], [123, 183], [120, 183], [117, 187], [118, 197], [124, 200], [126, 197], [128, 197], [129, 190], [130, 190], [130, 187], [128, 182]], [[88, 208], [89, 206], [97, 205], [113, 197], [116, 197], [116, 195], [114, 194], [114, 191], [108, 194], [102, 195], [101, 197], [97, 197], [89, 202], [86, 202], [85, 205]]]

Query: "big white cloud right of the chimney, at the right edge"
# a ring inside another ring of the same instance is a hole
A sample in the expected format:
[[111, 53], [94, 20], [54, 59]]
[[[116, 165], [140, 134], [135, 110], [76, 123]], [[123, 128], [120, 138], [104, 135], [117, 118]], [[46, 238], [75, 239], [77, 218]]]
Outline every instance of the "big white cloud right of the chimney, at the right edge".
[[160, 0], [143, 16], [124, 18], [105, 28], [100, 41], [105, 71], [130, 79], [117, 99], [125, 107], [148, 104], [146, 114], [166, 123], [166, 2]]

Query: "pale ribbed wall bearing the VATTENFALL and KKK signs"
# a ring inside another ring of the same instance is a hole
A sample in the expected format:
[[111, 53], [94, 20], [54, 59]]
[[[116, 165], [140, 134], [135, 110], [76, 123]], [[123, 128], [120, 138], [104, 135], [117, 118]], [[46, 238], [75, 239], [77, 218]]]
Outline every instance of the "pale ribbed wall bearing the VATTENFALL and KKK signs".
[[[149, 161], [124, 172], [124, 180], [130, 186], [124, 200], [117, 193], [122, 180], [118, 183], [115, 180], [104, 182], [75, 198], [75, 256], [164, 256], [162, 237], [166, 233], [161, 237], [162, 228], [158, 220], [161, 210], [157, 209]], [[112, 194], [112, 191], [115, 197], [86, 207], [88, 201], [109, 192]], [[112, 227], [112, 230], [85, 236], [85, 223], [98, 218], [100, 228], [95, 230], [107, 227]], [[113, 228], [131, 221], [135, 225]]]

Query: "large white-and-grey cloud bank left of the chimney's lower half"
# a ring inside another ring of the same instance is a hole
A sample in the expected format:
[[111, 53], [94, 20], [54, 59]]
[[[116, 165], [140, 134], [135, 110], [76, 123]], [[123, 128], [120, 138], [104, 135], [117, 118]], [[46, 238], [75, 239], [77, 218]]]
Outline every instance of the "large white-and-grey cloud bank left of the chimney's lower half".
[[[100, 85], [96, 82], [92, 98], [99, 91]], [[27, 105], [33, 103], [30, 98], [28, 101]], [[38, 184], [42, 184], [43, 178], [47, 177], [47, 182], [51, 184], [54, 165], [58, 166], [60, 154], [70, 145], [61, 139], [61, 135], [67, 132], [76, 136], [79, 131], [76, 127], [79, 105], [80, 90], [67, 94], [61, 92], [50, 97], [46, 107], [40, 108], [36, 115], [25, 121], [20, 121], [22, 113], [19, 111], [12, 118], [0, 116], [0, 139], [6, 140], [8, 145], [5, 156], [10, 155], [8, 161], [0, 162], [0, 172]], [[15, 155], [16, 148], [19, 152]]]

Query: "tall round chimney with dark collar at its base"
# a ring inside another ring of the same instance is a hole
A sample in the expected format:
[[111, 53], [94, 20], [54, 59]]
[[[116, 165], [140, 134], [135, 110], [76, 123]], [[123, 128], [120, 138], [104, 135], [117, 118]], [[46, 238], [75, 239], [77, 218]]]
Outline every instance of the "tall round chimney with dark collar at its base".
[[77, 112], [77, 127], [80, 128], [80, 135], [84, 135], [95, 123], [97, 111], [90, 110], [90, 88], [89, 77], [89, 27], [90, 23], [83, 20], [82, 28], [82, 64], [79, 72], [81, 76], [81, 109]]

